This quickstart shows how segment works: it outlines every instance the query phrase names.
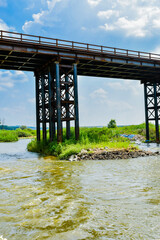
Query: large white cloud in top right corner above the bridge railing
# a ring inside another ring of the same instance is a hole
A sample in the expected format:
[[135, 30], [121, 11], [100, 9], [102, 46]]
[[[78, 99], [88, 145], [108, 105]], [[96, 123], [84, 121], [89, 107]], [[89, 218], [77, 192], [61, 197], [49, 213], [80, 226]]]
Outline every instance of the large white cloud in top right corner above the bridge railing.
[[[107, 4], [108, 2], [108, 4]], [[103, 11], [97, 13], [105, 31], [122, 31], [126, 36], [145, 37], [160, 30], [160, 2], [156, 0], [103, 0]], [[106, 7], [105, 7], [106, 6]]]

